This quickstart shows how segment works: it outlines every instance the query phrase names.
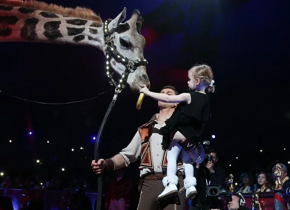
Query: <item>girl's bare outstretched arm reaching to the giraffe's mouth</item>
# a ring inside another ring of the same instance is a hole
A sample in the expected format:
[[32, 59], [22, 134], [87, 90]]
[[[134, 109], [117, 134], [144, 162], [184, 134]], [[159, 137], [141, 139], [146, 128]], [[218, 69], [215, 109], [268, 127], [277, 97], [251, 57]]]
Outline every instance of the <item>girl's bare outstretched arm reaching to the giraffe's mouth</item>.
[[191, 96], [189, 93], [181, 93], [179, 95], [166, 95], [164, 93], [155, 93], [148, 90], [145, 84], [143, 85], [143, 88], [140, 90], [140, 93], [144, 93], [146, 96], [149, 96], [157, 101], [165, 103], [180, 103], [180, 102], [187, 102], [187, 104], [191, 103]]

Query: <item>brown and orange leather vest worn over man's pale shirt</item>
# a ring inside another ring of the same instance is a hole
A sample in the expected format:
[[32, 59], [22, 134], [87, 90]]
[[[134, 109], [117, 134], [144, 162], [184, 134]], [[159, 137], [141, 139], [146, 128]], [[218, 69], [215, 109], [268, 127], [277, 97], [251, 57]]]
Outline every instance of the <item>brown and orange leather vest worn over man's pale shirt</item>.
[[[152, 153], [150, 147], [150, 140], [152, 135], [152, 130], [154, 125], [156, 124], [155, 120], [150, 121], [149, 123], [139, 127], [139, 134], [141, 137], [141, 164], [140, 169], [142, 168], [154, 168], [153, 161], [152, 161]], [[167, 150], [163, 152], [162, 156], [162, 168], [167, 168]], [[182, 163], [178, 159], [177, 166], [181, 166]]]

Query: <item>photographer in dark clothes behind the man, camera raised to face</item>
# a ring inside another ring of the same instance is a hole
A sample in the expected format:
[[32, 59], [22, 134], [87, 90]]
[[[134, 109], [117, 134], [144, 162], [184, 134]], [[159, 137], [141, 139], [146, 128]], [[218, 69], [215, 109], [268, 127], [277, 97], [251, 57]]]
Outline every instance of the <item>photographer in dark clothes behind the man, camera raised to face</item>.
[[194, 168], [194, 176], [197, 179], [197, 195], [193, 199], [193, 205], [190, 210], [206, 210], [221, 208], [222, 202], [217, 198], [210, 198], [206, 195], [208, 185], [216, 184], [224, 187], [225, 171], [216, 166], [218, 154], [213, 148], [205, 148], [208, 154], [201, 164], [196, 164]]

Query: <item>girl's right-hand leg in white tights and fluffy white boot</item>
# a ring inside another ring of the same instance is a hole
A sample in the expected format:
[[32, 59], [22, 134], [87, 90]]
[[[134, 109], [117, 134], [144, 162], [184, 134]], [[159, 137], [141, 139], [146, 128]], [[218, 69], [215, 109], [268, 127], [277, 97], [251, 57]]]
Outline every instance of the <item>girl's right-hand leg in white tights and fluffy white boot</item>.
[[185, 173], [185, 179], [184, 179], [184, 187], [186, 189], [185, 196], [186, 199], [193, 199], [195, 195], [197, 194], [197, 191], [194, 186], [196, 186], [196, 179], [194, 177], [194, 167], [192, 164], [192, 160], [188, 153], [182, 149], [181, 150], [181, 157], [182, 157], [182, 163], [184, 166], [184, 173]]

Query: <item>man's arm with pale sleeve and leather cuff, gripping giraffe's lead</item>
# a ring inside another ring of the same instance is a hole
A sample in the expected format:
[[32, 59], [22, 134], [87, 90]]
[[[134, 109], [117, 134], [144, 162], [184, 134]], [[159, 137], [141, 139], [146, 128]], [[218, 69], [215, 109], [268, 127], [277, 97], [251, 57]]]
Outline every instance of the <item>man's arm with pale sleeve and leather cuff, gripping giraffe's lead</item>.
[[122, 149], [119, 154], [109, 159], [99, 159], [97, 162], [92, 161], [92, 168], [96, 174], [102, 173], [104, 170], [116, 170], [129, 166], [131, 162], [138, 160], [141, 153], [141, 137], [137, 131], [130, 144]]

